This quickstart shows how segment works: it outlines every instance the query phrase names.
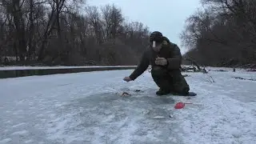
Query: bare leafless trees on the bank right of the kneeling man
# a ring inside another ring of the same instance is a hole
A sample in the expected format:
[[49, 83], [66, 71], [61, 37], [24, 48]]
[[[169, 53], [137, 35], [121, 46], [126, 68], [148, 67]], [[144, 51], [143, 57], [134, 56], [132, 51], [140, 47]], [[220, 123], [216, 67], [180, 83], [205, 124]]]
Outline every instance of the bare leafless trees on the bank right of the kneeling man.
[[203, 66], [256, 64], [256, 1], [202, 0], [182, 31], [183, 56]]

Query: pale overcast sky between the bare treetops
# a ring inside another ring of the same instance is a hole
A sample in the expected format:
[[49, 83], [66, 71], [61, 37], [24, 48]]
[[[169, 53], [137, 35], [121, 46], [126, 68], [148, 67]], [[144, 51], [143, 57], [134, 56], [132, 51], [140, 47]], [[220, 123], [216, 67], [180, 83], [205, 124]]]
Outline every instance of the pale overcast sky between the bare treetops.
[[87, 0], [89, 5], [103, 6], [114, 3], [130, 21], [142, 22], [150, 31], [161, 31], [170, 42], [180, 46], [179, 34], [190, 14], [199, 8], [200, 0]]

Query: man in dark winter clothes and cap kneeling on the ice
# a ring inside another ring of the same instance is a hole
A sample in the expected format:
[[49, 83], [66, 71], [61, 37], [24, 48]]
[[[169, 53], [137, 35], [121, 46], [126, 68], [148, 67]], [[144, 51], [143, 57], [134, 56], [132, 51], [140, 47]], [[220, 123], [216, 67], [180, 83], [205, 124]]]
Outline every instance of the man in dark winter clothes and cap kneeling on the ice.
[[181, 63], [182, 54], [178, 46], [163, 37], [162, 33], [154, 31], [150, 34], [150, 48], [142, 54], [142, 59], [134, 72], [123, 80], [134, 81], [151, 65], [152, 78], [160, 87], [157, 95], [188, 95], [190, 86], [181, 74]]

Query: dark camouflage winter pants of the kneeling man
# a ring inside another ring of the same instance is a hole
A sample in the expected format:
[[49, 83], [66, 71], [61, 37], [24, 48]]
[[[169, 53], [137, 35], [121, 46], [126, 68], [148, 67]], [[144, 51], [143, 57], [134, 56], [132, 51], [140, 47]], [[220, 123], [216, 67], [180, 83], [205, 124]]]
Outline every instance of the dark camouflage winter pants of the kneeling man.
[[161, 90], [178, 94], [186, 94], [190, 90], [190, 86], [180, 70], [168, 71], [160, 66], [155, 66], [151, 70], [151, 75]]

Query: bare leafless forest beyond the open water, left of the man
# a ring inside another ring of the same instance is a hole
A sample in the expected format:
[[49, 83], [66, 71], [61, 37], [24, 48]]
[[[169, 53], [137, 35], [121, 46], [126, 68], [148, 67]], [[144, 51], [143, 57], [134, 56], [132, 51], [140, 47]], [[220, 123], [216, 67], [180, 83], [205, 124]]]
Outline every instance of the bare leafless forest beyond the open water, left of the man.
[[114, 5], [0, 0], [0, 58], [15, 65], [136, 65], [150, 31]]

